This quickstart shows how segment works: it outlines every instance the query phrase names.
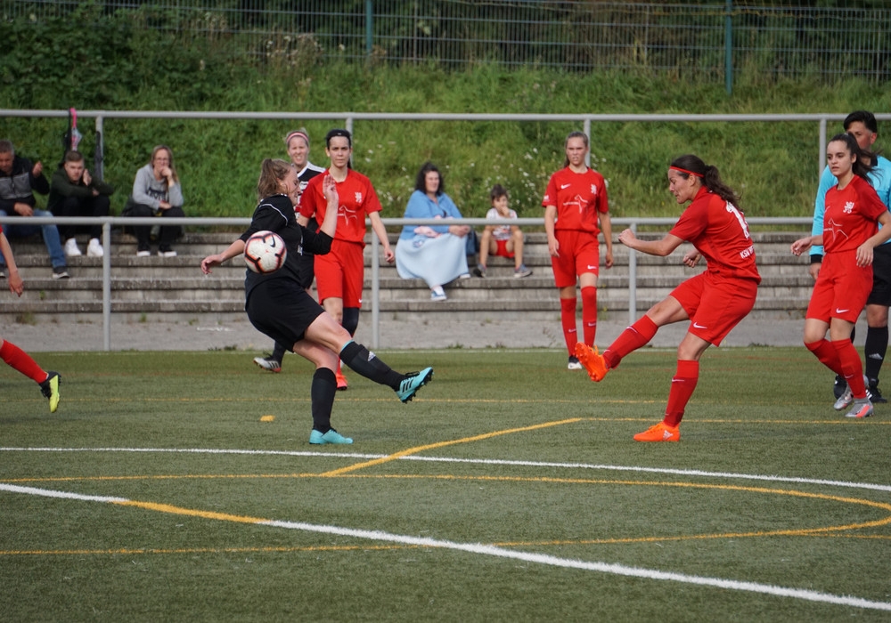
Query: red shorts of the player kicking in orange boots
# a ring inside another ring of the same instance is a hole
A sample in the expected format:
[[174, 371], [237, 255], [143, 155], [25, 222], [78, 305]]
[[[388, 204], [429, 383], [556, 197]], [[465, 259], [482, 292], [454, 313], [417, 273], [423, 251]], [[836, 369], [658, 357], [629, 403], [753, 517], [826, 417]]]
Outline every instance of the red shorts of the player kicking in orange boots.
[[675, 287], [671, 295], [690, 316], [688, 331], [720, 346], [723, 338], [755, 307], [758, 283], [705, 271]]

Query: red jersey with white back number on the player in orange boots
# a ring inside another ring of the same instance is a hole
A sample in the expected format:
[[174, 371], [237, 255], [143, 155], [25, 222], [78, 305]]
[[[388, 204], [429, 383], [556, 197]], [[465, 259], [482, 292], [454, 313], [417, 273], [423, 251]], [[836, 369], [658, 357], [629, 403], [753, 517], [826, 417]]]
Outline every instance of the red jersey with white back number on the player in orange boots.
[[707, 271], [761, 282], [746, 218], [705, 186], [669, 233], [696, 247], [706, 258]]

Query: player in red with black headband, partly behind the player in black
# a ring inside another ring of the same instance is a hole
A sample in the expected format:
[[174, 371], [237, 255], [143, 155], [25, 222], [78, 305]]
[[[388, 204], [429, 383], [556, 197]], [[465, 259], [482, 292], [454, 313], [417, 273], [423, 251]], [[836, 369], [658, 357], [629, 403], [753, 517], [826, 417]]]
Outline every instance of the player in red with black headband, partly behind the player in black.
[[[325, 135], [325, 152], [331, 158], [327, 173], [337, 182], [339, 195], [337, 233], [331, 253], [315, 257], [315, 289], [325, 312], [331, 314], [350, 336], [356, 335], [359, 310], [362, 308], [364, 280], [365, 216], [372, 222], [372, 230], [380, 239], [387, 263], [396, 260], [390, 248], [387, 230], [380, 220], [380, 201], [371, 180], [356, 173], [349, 166], [353, 155], [353, 139], [347, 130], [334, 129]], [[320, 223], [325, 217], [323, 175], [309, 181], [300, 196], [298, 223], [306, 226], [315, 215]], [[347, 389], [347, 379], [337, 368], [339, 390]]]

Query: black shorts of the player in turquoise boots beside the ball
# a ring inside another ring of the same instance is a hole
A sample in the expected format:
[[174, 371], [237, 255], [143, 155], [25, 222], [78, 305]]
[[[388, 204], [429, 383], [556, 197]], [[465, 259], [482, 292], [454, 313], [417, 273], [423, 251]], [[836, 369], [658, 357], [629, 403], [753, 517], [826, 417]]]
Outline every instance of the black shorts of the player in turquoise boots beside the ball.
[[254, 287], [244, 311], [257, 331], [291, 352], [309, 325], [324, 313], [322, 305], [289, 279], [269, 279]]

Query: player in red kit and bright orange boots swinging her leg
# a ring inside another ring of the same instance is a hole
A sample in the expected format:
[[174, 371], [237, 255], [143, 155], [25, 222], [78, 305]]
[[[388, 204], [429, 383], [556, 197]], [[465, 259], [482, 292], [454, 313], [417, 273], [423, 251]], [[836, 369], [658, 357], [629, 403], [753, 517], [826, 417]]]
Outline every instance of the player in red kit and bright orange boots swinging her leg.
[[678, 204], [691, 202], [661, 240], [641, 240], [631, 230], [619, 234], [625, 247], [649, 255], [669, 255], [683, 241], [694, 250], [683, 256], [691, 268], [705, 257], [706, 271], [675, 287], [626, 328], [601, 355], [586, 344], [576, 344], [576, 357], [594, 381], [601, 381], [630, 352], [648, 344], [659, 327], [690, 320], [677, 348], [677, 369], [668, 392], [666, 415], [658, 425], [634, 435], [634, 441], [680, 441], [680, 424], [687, 402], [699, 380], [699, 358], [711, 345], [721, 345], [755, 306], [761, 276], [755, 247], [739, 198], [727, 187], [715, 166], [693, 155], [674, 159], [668, 168], [668, 190]]

